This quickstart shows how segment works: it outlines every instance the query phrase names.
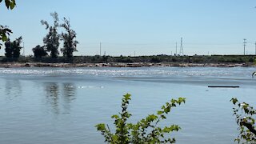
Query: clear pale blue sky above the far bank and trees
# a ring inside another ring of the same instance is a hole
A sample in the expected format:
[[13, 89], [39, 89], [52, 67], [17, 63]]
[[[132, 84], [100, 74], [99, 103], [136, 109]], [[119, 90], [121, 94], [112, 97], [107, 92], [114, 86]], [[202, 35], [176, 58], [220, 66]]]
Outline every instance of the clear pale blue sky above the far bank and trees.
[[[70, 18], [77, 33], [74, 55], [178, 54], [183, 38], [186, 55], [255, 54], [255, 0], [16, 0], [14, 10], [0, 4], [0, 24], [13, 30], [10, 39], [22, 36], [25, 54], [43, 45], [47, 30], [41, 20], [53, 24]], [[62, 30], [59, 30], [61, 32]], [[4, 49], [0, 50], [0, 55]]]

